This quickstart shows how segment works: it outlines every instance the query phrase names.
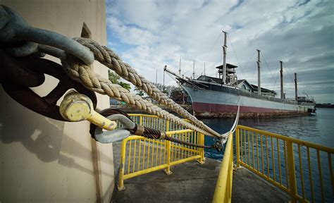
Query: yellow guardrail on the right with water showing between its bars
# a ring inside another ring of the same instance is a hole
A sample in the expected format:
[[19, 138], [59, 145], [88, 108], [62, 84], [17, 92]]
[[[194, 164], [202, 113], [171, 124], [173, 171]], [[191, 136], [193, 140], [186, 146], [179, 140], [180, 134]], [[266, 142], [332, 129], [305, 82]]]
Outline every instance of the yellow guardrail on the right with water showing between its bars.
[[237, 168], [268, 180], [290, 194], [292, 202], [333, 202], [333, 148], [242, 125], [235, 135]]

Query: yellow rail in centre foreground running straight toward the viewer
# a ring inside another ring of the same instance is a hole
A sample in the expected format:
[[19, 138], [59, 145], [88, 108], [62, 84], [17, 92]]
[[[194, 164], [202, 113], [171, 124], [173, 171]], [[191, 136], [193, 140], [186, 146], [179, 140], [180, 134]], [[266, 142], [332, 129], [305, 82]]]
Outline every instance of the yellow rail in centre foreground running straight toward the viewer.
[[233, 133], [228, 135], [212, 202], [231, 202], [233, 180]]

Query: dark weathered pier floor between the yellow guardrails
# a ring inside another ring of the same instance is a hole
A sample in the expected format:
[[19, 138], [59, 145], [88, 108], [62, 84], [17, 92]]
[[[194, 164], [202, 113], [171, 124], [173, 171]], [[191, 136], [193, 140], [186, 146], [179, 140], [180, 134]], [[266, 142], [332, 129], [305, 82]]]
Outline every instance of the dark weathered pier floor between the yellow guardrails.
[[[115, 173], [118, 173], [120, 143], [113, 144]], [[111, 202], [211, 202], [220, 161], [206, 158], [205, 164], [190, 161], [172, 166], [173, 174], [155, 171], [125, 180], [125, 190], [113, 191]], [[116, 180], [118, 177], [116, 176]], [[289, 196], [246, 168], [233, 172], [232, 202], [287, 202]]]

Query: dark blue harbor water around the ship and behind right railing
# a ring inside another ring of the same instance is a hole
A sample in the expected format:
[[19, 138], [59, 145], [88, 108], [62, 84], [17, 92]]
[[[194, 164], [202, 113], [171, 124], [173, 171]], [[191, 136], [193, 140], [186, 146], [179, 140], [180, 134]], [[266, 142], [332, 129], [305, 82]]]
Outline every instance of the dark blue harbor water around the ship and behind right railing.
[[[225, 133], [230, 130], [233, 125], [234, 120], [228, 118], [211, 118], [211, 119], [202, 119], [202, 121], [209, 125], [210, 128], [213, 128], [218, 133]], [[271, 133], [277, 133], [280, 135], [285, 135], [289, 137], [294, 137], [299, 140], [305, 140], [309, 142], [314, 142], [316, 144], [321, 144], [327, 147], [334, 147], [334, 109], [317, 109], [316, 115], [311, 116], [295, 116], [295, 117], [285, 117], [285, 118], [244, 118], [239, 121], [240, 125], [246, 125], [252, 128], [257, 128], [260, 130], [266, 130]], [[213, 144], [214, 139], [211, 137], [206, 137], [206, 145]], [[277, 153], [277, 149], [275, 149]], [[297, 147], [295, 147], [297, 148]], [[295, 161], [298, 157], [297, 149], [294, 148], [295, 152]], [[223, 159], [223, 152], [216, 152], [213, 149], [208, 149], [205, 152], [205, 156], [211, 159]], [[323, 168], [323, 186], [325, 188], [326, 202], [333, 202], [333, 195], [330, 187], [329, 180], [329, 169], [328, 169], [328, 156], [323, 153], [320, 154], [321, 157], [321, 168]], [[276, 160], [276, 157], [274, 157]], [[314, 184], [314, 195], [316, 202], [321, 202], [321, 190], [319, 180], [317, 179], [318, 174], [317, 165], [316, 165], [316, 152], [311, 153], [311, 171], [313, 175], [313, 184]], [[334, 159], [332, 157], [332, 163]], [[295, 163], [296, 166], [298, 164]], [[306, 152], [302, 152], [302, 164], [303, 166], [307, 164]], [[270, 166], [271, 167], [271, 166]], [[278, 167], [277, 164], [275, 168]], [[282, 169], [284, 165], [281, 164]], [[273, 173], [273, 168], [269, 168], [269, 173]], [[296, 168], [297, 170], [297, 168]], [[266, 171], [266, 169], [265, 169]], [[276, 168], [276, 171], [278, 169]], [[277, 172], [276, 172], [277, 173]], [[305, 185], [305, 197], [311, 199], [311, 192], [309, 189], [309, 181], [307, 176], [307, 171], [304, 171], [304, 185]], [[286, 184], [285, 173], [282, 173], [283, 184]], [[301, 184], [299, 173], [296, 176], [297, 179], [297, 190], [301, 194]]]

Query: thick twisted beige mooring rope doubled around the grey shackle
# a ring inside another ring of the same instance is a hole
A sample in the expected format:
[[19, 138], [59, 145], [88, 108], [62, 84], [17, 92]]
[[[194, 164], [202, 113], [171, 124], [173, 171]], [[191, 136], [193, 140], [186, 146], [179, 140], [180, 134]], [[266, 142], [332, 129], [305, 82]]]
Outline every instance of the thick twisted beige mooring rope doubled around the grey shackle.
[[[176, 104], [173, 99], [168, 98], [166, 94], [161, 92], [154, 84], [146, 80], [142, 75], [137, 74], [137, 71], [132, 68], [128, 63], [124, 63], [120, 57], [115, 54], [111, 49], [105, 46], [99, 45], [92, 39], [86, 38], [75, 38], [77, 42], [89, 48], [90, 51], [94, 54], [95, 60], [104, 64], [104, 66], [114, 70], [118, 75], [120, 75], [125, 80], [132, 82], [133, 85], [139, 87], [141, 90], [144, 90], [149, 96], [151, 96], [156, 101], [159, 101], [161, 104], [168, 106], [175, 113], [178, 113], [180, 116], [184, 116], [189, 121], [192, 121], [194, 127], [197, 129], [201, 128], [203, 130], [196, 130], [206, 135], [211, 135], [213, 137], [221, 137], [219, 133], [209, 128], [202, 121], [199, 121], [196, 117], [192, 116], [188, 111], [183, 109], [182, 106]], [[181, 120], [180, 118], [173, 116], [173, 114], [168, 113], [160, 109], [158, 106], [154, 106], [151, 102], [142, 99], [141, 97], [135, 97], [128, 93], [127, 90], [120, 87], [119, 85], [112, 84], [109, 80], [102, 78], [100, 75], [94, 73], [89, 66], [86, 66], [80, 61], [75, 60], [73, 57], [63, 57], [62, 63], [66, 71], [69, 73], [70, 77], [75, 79], [78, 82], [82, 82], [89, 90], [94, 90], [100, 94], [108, 94], [109, 97], [116, 98], [120, 101], [125, 101], [125, 103], [133, 104], [138, 106], [140, 109], [144, 109], [149, 113], [152, 113], [160, 118], [165, 118], [168, 120], [175, 121], [177, 123], [183, 124], [185, 126], [190, 126], [189, 123]], [[112, 95], [112, 96], [111, 96]], [[176, 117], [176, 118], [175, 118]]]

